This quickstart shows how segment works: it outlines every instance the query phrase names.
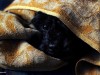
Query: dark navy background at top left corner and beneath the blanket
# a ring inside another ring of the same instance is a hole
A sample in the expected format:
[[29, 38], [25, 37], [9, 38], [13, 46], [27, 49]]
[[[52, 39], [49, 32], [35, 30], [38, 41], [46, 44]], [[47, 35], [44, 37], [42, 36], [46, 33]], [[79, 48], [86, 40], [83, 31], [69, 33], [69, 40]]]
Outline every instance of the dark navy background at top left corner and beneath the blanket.
[[[0, 10], [8, 6], [13, 0], [0, 0]], [[74, 65], [66, 65], [58, 70], [49, 71], [49, 72], [25, 72], [25, 71], [11, 71], [11, 70], [4, 70], [0, 69], [0, 72], [6, 71], [6, 75], [75, 75], [74, 74]], [[4, 75], [4, 74], [0, 74]]]

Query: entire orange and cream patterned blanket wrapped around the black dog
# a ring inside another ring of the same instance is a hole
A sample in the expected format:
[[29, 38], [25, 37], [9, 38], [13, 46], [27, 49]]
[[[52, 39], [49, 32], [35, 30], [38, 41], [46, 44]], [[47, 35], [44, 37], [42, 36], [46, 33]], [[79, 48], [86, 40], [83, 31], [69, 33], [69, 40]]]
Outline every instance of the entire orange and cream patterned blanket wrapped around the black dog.
[[4, 11], [0, 11], [0, 39], [11, 40], [0, 43], [0, 66], [15, 70], [49, 71], [64, 65], [60, 59], [44, 54], [26, 41], [12, 41], [39, 33], [30, 25], [26, 28], [24, 25], [28, 24], [17, 16], [30, 22], [37, 11], [59, 18], [74, 34], [94, 48], [91, 54], [77, 62], [76, 74], [99, 75], [99, 0], [15, 0]]

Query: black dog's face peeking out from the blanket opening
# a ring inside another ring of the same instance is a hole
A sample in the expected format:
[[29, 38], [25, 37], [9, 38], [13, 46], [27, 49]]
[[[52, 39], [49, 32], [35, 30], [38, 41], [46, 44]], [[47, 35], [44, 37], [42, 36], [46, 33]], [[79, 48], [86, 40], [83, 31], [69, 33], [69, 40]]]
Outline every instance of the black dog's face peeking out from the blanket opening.
[[79, 60], [92, 49], [54, 16], [36, 12], [31, 23], [40, 32], [40, 36], [31, 37], [29, 43], [50, 56], [70, 62]]

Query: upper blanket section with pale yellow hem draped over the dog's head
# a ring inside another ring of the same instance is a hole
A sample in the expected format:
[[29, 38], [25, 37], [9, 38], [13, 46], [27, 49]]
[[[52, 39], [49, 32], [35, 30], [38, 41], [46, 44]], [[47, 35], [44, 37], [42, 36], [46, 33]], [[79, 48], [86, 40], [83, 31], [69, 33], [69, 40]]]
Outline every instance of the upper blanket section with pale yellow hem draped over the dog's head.
[[13, 9], [42, 11], [56, 16], [78, 37], [100, 51], [99, 0], [15, 0], [5, 11]]

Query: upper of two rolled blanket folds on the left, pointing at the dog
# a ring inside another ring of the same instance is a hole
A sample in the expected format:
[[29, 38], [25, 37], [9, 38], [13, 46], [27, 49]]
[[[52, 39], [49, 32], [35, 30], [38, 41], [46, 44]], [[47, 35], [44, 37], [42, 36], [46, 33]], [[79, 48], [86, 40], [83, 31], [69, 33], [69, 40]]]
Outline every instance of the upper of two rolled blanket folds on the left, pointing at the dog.
[[15, 14], [0, 11], [0, 39], [28, 39], [38, 34], [39, 31], [30, 25]]

